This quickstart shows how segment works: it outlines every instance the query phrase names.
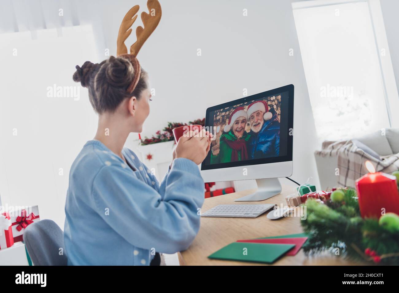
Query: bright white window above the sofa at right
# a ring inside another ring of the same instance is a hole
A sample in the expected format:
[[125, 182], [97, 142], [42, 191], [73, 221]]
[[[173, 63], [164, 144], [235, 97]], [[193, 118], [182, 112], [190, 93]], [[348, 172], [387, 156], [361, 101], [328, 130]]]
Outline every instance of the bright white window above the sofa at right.
[[393, 71], [384, 72], [381, 64], [391, 61], [387, 45], [379, 49], [386, 36], [378, 0], [316, 0], [292, 7], [319, 139], [349, 139], [390, 127], [389, 104], [397, 105], [398, 96], [387, 83]]

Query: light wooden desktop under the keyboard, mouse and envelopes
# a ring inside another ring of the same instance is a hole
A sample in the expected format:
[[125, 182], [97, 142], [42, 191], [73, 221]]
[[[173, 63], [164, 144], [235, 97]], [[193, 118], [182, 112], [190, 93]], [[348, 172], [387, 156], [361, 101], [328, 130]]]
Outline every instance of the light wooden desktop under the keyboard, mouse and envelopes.
[[[255, 192], [255, 190], [241, 191], [205, 199], [202, 212], [217, 205], [243, 205], [273, 203], [286, 205], [285, 197], [292, 194], [293, 187], [283, 186], [282, 192], [266, 201], [235, 202], [234, 200]], [[266, 214], [257, 218], [201, 218], [201, 227], [194, 242], [188, 250], [181, 252], [182, 265], [263, 265], [251, 262], [233, 262], [211, 260], [207, 258], [223, 246], [239, 239], [251, 239], [284, 234], [301, 233], [299, 217], [286, 217], [279, 220], [269, 220]], [[345, 260], [342, 257], [322, 254], [319, 256], [305, 256], [300, 250], [296, 256], [284, 256], [274, 265], [362, 265], [362, 263]]]

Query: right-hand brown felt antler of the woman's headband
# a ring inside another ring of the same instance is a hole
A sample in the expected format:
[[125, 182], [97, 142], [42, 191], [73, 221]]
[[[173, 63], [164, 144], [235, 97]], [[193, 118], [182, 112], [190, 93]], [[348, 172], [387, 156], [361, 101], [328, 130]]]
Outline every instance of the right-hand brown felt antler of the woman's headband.
[[[141, 19], [144, 29], [138, 26], [136, 29], [137, 41], [130, 47], [130, 54], [137, 56], [144, 42], [148, 39], [161, 20], [162, 10], [158, 0], [148, 0], [147, 7], [150, 14], [142, 12]], [[130, 12], [130, 11], [129, 11]], [[126, 16], [125, 16], [126, 17]], [[129, 32], [130, 34], [130, 32]]]

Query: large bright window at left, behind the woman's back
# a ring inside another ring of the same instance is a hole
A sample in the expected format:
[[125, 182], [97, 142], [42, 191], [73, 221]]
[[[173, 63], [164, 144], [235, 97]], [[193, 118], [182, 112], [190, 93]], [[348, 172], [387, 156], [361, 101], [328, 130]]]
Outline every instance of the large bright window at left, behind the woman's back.
[[39, 205], [63, 227], [71, 163], [97, 129], [87, 90], [72, 80], [75, 65], [98, 59], [92, 28], [0, 34], [0, 42], [2, 204]]

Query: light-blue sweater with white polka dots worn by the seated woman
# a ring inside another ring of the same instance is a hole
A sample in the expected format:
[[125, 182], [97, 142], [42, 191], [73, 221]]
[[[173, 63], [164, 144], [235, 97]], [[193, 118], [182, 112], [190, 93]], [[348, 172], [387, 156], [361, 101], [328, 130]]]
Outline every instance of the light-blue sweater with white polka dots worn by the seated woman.
[[134, 170], [97, 140], [72, 164], [64, 227], [69, 265], [149, 265], [155, 252], [185, 250], [198, 233], [198, 166], [175, 159], [159, 185], [133, 151], [122, 154]]

